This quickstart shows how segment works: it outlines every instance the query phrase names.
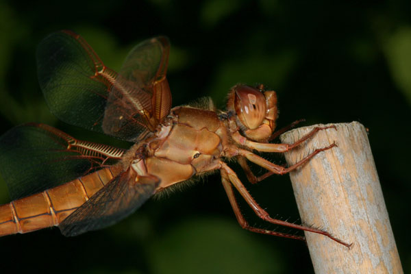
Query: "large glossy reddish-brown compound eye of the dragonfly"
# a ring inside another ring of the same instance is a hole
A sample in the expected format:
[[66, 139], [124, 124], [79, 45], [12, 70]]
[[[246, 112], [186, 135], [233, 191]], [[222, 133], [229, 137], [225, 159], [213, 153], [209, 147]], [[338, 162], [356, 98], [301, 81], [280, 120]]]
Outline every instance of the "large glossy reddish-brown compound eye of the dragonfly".
[[251, 86], [236, 86], [234, 108], [238, 119], [249, 129], [256, 129], [266, 116], [266, 100], [264, 94]]

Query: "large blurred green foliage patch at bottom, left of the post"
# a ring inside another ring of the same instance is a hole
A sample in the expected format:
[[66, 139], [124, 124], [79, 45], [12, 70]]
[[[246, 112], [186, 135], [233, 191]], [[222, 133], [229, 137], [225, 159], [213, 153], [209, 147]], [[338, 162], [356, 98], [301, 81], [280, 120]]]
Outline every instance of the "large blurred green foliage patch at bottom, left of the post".
[[153, 241], [149, 251], [153, 273], [284, 273], [281, 253], [243, 233], [234, 220], [189, 219]]

